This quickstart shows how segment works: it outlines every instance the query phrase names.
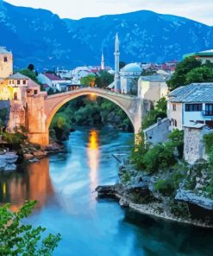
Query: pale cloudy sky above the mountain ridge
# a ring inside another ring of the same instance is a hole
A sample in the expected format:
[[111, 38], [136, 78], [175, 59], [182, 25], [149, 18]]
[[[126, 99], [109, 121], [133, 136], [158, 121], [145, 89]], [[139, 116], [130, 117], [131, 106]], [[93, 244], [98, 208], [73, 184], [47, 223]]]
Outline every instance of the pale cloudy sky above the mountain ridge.
[[6, 0], [18, 6], [51, 10], [62, 18], [120, 14], [153, 10], [162, 14], [185, 16], [213, 26], [213, 0]]

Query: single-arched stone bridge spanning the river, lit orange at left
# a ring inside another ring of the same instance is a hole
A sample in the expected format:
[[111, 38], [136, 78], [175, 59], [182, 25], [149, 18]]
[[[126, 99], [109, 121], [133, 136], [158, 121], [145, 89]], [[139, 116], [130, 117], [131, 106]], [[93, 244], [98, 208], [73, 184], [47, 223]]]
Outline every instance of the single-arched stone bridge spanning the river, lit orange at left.
[[142, 116], [147, 112], [144, 100], [136, 96], [114, 93], [97, 87], [84, 87], [66, 93], [57, 93], [43, 97], [43, 101], [40, 99], [38, 102], [33, 102], [33, 97], [31, 100], [28, 100], [27, 127], [29, 141], [34, 144], [41, 144], [42, 146], [49, 144], [49, 125], [55, 113], [66, 102], [83, 95], [103, 97], [114, 102], [128, 115], [135, 134], [140, 131]]

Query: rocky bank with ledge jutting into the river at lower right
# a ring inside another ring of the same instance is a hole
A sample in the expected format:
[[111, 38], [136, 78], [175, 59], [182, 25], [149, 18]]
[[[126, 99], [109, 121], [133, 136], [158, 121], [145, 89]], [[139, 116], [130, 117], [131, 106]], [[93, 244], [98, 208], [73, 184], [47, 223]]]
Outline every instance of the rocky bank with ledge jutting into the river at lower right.
[[118, 184], [97, 187], [98, 197], [116, 198], [122, 207], [133, 209], [140, 214], [213, 228], [213, 200], [210, 198], [195, 195], [185, 189], [178, 189], [174, 197], [163, 196], [155, 191], [153, 176], [137, 176], [133, 170], [132, 180], [122, 182], [125, 175], [123, 170], [121, 167]]

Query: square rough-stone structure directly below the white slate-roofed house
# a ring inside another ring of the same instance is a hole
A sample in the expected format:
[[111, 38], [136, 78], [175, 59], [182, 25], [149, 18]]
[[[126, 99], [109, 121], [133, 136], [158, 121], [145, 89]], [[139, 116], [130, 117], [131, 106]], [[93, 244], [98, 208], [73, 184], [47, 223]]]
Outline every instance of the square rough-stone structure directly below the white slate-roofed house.
[[191, 123], [185, 125], [184, 157], [188, 163], [195, 163], [199, 159], [208, 159], [204, 148], [204, 134], [208, 134], [210, 128], [204, 124]]

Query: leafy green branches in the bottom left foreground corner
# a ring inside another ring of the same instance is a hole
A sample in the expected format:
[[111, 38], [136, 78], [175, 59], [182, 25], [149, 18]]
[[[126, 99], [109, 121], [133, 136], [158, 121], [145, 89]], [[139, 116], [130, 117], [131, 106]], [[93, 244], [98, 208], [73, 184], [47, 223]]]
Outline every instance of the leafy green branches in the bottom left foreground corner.
[[9, 204], [0, 208], [0, 254], [49, 256], [60, 242], [60, 234], [48, 234], [43, 227], [32, 227], [23, 224], [23, 219], [32, 213], [36, 202], [25, 202], [17, 213], [9, 210]]

